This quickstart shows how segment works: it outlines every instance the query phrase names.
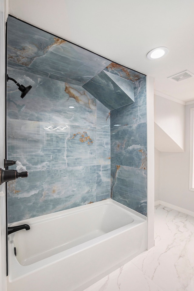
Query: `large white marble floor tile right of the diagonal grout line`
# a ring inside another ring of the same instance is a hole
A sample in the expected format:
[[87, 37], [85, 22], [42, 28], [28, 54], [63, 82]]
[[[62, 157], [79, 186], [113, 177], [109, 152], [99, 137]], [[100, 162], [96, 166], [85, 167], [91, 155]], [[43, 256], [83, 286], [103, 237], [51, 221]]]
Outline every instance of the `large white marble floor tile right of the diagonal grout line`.
[[164, 291], [192, 291], [194, 217], [159, 205], [155, 228], [155, 247], [133, 263]]

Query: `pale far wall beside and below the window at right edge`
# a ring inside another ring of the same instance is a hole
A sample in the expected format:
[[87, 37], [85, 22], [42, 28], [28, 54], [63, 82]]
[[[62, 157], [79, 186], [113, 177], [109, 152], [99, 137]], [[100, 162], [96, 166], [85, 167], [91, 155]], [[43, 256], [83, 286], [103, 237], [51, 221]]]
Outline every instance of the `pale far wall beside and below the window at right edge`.
[[160, 200], [194, 212], [194, 192], [189, 191], [190, 108], [194, 103], [185, 107], [185, 152], [160, 153]]

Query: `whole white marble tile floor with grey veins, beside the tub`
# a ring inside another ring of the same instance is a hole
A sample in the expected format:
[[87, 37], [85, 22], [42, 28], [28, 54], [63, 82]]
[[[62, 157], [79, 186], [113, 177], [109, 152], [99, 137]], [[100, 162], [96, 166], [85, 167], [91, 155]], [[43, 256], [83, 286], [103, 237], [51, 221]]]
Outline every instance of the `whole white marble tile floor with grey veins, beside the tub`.
[[85, 291], [194, 291], [194, 217], [155, 207], [155, 247]]

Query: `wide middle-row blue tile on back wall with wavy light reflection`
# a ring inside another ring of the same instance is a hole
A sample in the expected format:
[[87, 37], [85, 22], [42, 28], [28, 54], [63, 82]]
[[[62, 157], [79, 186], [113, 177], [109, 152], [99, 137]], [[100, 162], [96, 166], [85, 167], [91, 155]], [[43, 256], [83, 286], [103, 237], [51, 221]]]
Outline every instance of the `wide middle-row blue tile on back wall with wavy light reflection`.
[[11, 119], [7, 121], [7, 127], [8, 159], [20, 160], [28, 169], [63, 169], [96, 164], [94, 127]]

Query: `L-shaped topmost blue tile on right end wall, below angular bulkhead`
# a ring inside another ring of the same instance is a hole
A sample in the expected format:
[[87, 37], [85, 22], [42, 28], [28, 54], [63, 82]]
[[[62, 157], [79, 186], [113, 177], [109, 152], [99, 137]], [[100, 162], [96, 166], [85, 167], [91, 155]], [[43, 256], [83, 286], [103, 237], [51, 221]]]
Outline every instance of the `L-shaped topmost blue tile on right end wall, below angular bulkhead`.
[[146, 77], [134, 82], [135, 102], [111, 111], [111, 128], [146, 122]]

